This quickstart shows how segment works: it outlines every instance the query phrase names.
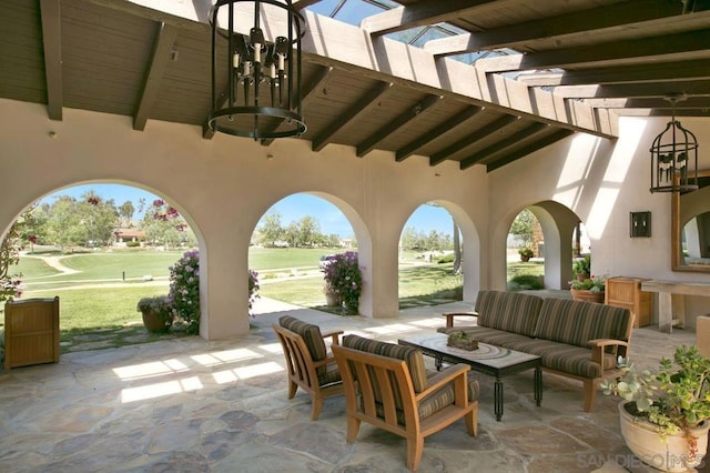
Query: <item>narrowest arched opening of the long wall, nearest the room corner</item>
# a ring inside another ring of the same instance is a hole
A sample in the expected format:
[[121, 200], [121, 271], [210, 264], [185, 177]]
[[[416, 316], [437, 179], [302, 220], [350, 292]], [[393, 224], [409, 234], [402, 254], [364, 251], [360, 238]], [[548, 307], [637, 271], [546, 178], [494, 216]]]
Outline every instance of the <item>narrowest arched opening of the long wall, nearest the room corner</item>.
[[479, 289], [479, 244], [473, 222], [449, 202], [412, 212], [399, 236], [399, 308], [470, 300]]

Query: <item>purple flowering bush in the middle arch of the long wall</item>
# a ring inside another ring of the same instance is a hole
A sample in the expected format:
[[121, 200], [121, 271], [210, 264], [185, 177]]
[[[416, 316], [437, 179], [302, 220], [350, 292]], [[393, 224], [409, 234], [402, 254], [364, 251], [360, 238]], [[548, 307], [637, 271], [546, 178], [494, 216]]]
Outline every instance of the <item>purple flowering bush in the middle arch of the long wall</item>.
[[357, 313], [359, 295], [363, 291], [363, 275], [357, 263], [357, 252], [336, 254], [323, 268], [326, 290], [343, 301], [345, 313]]

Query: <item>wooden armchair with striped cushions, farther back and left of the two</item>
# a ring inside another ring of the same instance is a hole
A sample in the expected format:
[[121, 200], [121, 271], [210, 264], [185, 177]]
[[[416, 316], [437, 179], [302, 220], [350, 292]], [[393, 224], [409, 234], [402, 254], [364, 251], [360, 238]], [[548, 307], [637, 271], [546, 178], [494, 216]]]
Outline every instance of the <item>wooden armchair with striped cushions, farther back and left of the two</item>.
[[288, 399], [296, 395], [298, 388], [311, 394], [311, 420], [316, 421], [323, 409], [323, 400], [342, 394], [343, 382], [337, 363], [327, 353], [324, 339], [331, 338], [338, 344], [342, 331], [321, 333], [317, 325], [300, 321], [288, 315], [272, 324], [286, 358], [288, 372]]

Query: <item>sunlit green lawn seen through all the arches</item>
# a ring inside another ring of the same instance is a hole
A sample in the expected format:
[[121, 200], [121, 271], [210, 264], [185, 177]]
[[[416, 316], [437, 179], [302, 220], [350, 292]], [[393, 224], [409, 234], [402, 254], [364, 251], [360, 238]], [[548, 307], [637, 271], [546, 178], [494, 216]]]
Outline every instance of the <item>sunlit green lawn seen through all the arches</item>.
[[[343, 251], [253, 246], [250, 249], [250, 268], [262, 275], [261, 295], [337, 313], [337, 309], [325, 306], [323, 275], [320, 272], [311, 271], [310, 274], [314, 275], [306, 278], [272, 278], [276, 273], [288, 272], [291, 268], [316, 270], [321, 255]], [[61, 264], [78, 271], [73, 274], [61, 274], [36, 258], [21, 258], [13, 270], [23, 273], [23, 299], [60, 296], [61, 338], [64, 343], [90, 339], [94, 336], [91, 333], [95, 332], [112, 332], [116, 334], [116, 341], [105, 346], [116, 346], [155, 339], [153, 335], [144, 335], [141, 314], [135, 310], [135, 304], [143, 296], [168, 293], [169, 266], [182, 253], [183, 251], [132, 250], [70, 254], [61, 259]], [[416, 255], [414, 252], [399, 255], [400, 308], [462, 300], [462, 278], [453, 274], [452, 263], [422, 264], [423, 260]], [[539, 275], [542, 271], [544, 264], [540, 262], [519, 262], [508, 266], [509, 278], [520, 274]], [[123, 272], [126, 281], [123, 281]], [[300, 273], [308, 274], [306, 271]], [[146, 274], [152, 275], [154, 281], [144, 282], [143, 276]], [[87, 284], [91, 286], [78, 288]]]

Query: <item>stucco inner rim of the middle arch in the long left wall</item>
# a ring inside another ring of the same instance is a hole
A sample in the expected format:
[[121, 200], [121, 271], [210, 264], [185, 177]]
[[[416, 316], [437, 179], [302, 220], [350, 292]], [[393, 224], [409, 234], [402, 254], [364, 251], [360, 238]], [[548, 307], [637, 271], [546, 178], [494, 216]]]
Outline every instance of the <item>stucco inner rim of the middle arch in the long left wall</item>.
[[[261, 215], [253, 222], [252, 233], [256, 230], [256, 225], [261, 218], [277, 202], [281, 202], [284, 199], [287, 199], [291, 195], [296, 195], [300, 193], [310, 194], [313, 197], [317, 197], [320, 199], [325, 200], [326, 202], [335, 205], [347, 219], [351, 227], [353, 228], [353, 233], [355, 233], [355, 239], [357, 240], [357, 260], [358, 264], [362, 269], [363, 273], [363, 292], [359, 298], [359, 313], [366, 316], [373, 316], [373, 240], [367, 229], [367, 225], [359, 213], [345, 200], [333, 195], [327, 192], [322, 191], [296, 191], [288, 192], [287, 194], [282, 194], [278, 199], [273, 200], [271, 203], [266, 204], [266, 202], [262, 202], [257, 205], [258, 209], [262, 209]], [[247, 255], [246, 261], [248, 262], [248, 248], [246, 249]], [[246, 272], [246, 270], [245, 270]]]

